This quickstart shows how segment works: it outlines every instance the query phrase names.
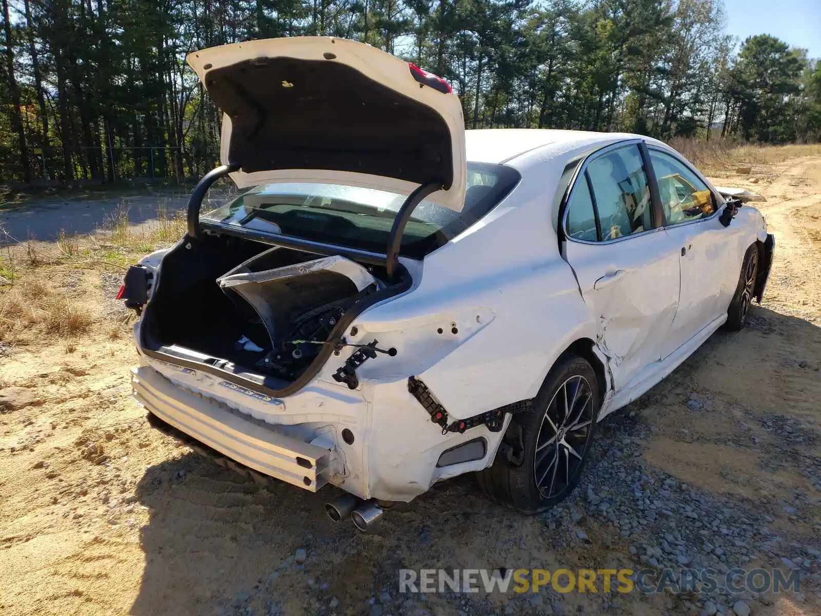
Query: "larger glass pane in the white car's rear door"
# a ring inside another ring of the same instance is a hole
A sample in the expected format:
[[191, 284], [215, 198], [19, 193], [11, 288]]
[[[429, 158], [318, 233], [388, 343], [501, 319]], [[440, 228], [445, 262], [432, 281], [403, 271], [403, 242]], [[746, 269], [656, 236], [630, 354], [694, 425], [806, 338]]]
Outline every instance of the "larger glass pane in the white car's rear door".
[[587, 175], [603, 241], [653, 228], [649, 183], [637, 145], [614, 149], [590, 161]]

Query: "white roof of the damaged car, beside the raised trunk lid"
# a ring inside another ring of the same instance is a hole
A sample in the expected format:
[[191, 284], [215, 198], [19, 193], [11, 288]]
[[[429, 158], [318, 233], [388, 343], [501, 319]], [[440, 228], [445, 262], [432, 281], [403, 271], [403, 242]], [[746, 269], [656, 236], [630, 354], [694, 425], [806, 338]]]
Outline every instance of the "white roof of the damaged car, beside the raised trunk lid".
[[[514, 159], [534, 150], [539, 150], [542, 155], [547, 154], [544, 150], [548, 150], [557, 156], [577, 152], [587, 146], [607, 145], [625, 139], [647, 139], [631, 133], [546, 128], [490, 128], [465, 131], [465, 136], [467, 159], [476, 163], [512, 163]], [[512, 166], [516, 167], [516, 164]]]

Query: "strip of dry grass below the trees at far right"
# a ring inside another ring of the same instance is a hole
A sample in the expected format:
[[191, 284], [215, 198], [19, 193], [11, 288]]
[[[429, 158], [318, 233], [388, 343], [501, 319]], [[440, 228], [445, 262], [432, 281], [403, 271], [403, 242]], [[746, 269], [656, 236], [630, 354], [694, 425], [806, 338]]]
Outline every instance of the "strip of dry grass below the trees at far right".
[[821, 144], [754, 145], [726, 139], [709, 141], [675, 138], [668, 142], [697, 167], [726, 171], [744, 164], [776, 164], [800, 156], [821, 155]]

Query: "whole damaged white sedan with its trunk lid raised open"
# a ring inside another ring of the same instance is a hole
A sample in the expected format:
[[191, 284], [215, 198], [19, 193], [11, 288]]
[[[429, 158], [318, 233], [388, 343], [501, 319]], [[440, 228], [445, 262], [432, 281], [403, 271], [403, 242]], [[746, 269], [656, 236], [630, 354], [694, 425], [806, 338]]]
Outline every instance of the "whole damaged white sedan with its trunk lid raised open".
[[[257, 479], [337, 485], [335, 520], [467, 472], [544, 510], [596, 421], [761, 300], [764, 218], [657, 140], [465, 131], [443, 80], [348, 40], [188, 60], [223, 166], [126, 275], [134, 397]], [[200, 214], [224, 175], [246, 191]]]

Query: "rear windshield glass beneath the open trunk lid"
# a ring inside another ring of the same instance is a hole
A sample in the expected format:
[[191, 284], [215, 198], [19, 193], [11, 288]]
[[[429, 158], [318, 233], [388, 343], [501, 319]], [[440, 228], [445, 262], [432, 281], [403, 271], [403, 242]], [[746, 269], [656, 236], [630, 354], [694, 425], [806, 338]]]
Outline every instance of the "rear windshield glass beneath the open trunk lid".
[[[413, 210], [401, 254], [416, 259], [443, 246], [497, 205], [520, 179], [504, 165], [467, 163], [465, 207], [454, 212], [422, 201]], [[384, 252], [405, 195], [335, 184], [277, 182], [255, 186], [202, 220], [258, 232]]]

